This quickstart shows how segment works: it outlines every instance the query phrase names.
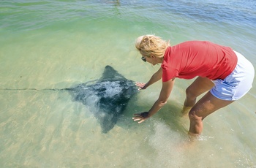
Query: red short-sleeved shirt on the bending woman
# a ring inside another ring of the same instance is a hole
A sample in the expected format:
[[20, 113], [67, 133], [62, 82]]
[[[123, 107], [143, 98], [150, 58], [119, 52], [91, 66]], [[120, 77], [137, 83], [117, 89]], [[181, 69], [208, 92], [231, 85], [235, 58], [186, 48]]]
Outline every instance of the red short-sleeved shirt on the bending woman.
[[203, 41], [182, 42], [165, 50], [162, 81], [196, 76], [225, 79], [235, 69], [237, 61], [236, 53], [230, 47]]

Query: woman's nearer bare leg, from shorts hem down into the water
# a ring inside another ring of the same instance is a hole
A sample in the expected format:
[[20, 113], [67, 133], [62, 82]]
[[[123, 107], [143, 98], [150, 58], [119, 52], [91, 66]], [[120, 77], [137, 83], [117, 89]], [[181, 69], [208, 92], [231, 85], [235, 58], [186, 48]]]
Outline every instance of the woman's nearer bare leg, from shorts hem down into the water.
[[203, 131], [203, 118], [234, 101], [226, 101], [214, 97], [210, 92], [206, 93], [189, 112], [189, 134], [199, 135]]

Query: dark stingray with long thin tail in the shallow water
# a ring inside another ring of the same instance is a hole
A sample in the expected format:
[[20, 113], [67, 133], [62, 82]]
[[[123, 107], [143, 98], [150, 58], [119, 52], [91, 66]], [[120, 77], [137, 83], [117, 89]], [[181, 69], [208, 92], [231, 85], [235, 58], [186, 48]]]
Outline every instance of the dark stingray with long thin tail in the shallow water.
[[124, 113], [129, 100], [138, 93], [138, 87], [134, 81], [127, 80], [112, 66], [105, 66], [99, 80], [81, 83], [72, 88], [2, 88], [1, 90], [68, 91], [73, 101], [80, 102], [89, 108], [99, 121], [103, 133], [113, 129], [118, 118]]

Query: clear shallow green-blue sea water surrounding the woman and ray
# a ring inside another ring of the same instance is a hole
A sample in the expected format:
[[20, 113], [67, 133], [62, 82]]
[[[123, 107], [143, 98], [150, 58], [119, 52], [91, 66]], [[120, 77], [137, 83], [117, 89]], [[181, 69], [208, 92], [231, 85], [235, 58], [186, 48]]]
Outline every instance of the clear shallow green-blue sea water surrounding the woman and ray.
[[255, 9], [254, 0], [0, 1], [0, 167], [256, 167], [256, 81], [193, 141], [179, 115], [193, 80], [177, 79], [165, 107], [138, 124], [132, 114], [151, 108], [161, 83], [140, 91], [107, 134], [69, 93], [42, 90], [97, 80], [106, 65], [147, 82], [159, 65], [140, 60], [143, 34], [217, 42], [256, 67]]

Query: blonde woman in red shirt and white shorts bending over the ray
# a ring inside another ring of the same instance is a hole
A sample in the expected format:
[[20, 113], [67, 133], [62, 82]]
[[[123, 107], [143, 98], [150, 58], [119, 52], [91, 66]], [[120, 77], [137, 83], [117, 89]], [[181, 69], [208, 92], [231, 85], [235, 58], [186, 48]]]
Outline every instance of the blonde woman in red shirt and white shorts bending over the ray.
[[[199, 135], [203, 119], [212, 112], [240, 99], [252, 88], [255, 70], [252, 64], [230, 47], [212, 42], [189, 41], [170, 47], [169, 42], [154, 35], [138, 37], [135, 44], [142, 60], [152, 65], [162, 64], [148, 83], [136, 83], [139, 89], [162, 79], [159, 98], [148, 112], [132, 118], [142, 123], [167, 102], [175, 78], [195, 81], [186, 89], [184, 111], [189, 112], [189, 134]], [[197, 96], [208, 91], [198, 102]]]

